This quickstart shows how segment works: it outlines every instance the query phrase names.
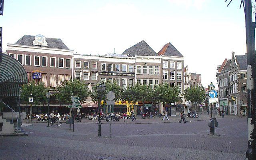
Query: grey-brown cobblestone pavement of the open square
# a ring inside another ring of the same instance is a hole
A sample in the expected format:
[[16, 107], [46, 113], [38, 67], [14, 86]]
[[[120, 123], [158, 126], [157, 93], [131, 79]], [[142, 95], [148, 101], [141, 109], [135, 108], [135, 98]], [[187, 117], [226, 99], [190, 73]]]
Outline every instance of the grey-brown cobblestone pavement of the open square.
[[245, 117], [217, 118], [216, 136], [209, 135], [207, 120], [187, 120], [187, 123], [176, 123], [177, 120], [173, 123], [162, 123], [162, 120], [138, 124], [112, 122], [112, 138], [109, 138], [109, 124], [102, 124], [102, 137], [98, 138], [95, 123], [76, 123], [74, 132], [65, 123], [51, 127], [46, 127], [46, 123], [33, 123], [34, 126], [23, 127], [29, 132], [28, 136], [0, 137], [0, 159], [245, 159]]

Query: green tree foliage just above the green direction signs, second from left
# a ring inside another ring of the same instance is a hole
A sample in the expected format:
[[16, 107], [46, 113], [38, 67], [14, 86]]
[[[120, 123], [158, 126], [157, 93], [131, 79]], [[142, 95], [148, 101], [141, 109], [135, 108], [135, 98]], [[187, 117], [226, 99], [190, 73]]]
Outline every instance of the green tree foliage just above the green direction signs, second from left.
[[60, 92], [56, 94], [57, 102], [62, 104], [71, 104], [71, 96], [78, 96], [80, 102], [84, 102], [89, 96], [88, 87], [84, 82], [79, 80], [64, 81], [57, 88]]

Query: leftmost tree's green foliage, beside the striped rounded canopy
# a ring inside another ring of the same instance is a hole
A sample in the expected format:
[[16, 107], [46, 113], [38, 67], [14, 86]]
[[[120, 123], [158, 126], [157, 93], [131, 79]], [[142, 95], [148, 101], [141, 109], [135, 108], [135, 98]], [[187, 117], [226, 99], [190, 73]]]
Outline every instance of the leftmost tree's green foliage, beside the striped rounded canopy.
[[31, 81], [28, 84], [22, 85], [20, 101], [23, 104], [29, 104], [29, 97], [32, 94], [33, 103], [35, 105], [45, 104], [46, 103], [46, 93], [47, 89], [44, 86], [44, 83], [36, 84], [35, 81]]

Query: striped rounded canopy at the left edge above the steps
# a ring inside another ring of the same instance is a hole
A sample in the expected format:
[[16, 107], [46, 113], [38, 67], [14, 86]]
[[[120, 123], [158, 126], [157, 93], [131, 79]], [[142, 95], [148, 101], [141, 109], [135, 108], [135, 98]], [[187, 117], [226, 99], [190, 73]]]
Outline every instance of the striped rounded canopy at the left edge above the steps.
[[28, 83], [27, 72], [18, 60], [0, 54], [0, 97], [20, 96], [20, 85]]

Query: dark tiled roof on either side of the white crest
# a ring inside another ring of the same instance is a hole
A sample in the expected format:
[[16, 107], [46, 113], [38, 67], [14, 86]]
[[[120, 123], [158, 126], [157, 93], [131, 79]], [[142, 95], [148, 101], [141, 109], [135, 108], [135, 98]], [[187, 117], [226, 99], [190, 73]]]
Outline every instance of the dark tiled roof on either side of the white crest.
[[[24, 35], [22, 38], [20, 38], [14, 44], [20, 44], [20, 45], [25, 45], [25, 46], [38, 46], [38, 45], [33, 45], [34, 40], [35, 40], [35, 36]], [[62, 42], [61, 39], [46, 38], [46, 42], [48, 43], [48, 46], [40, 46], [40, 47], [58, 48], [58, 49], [68, 50], [68, 47]]]

